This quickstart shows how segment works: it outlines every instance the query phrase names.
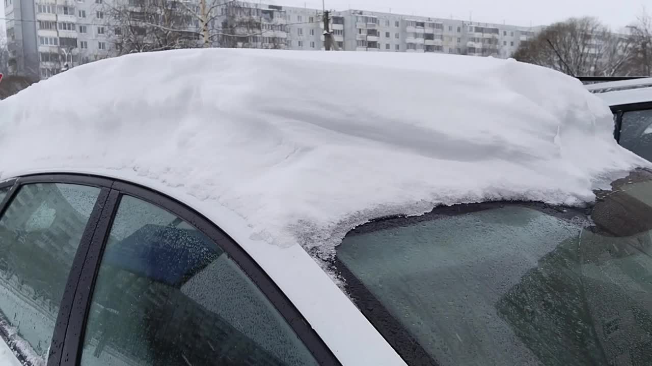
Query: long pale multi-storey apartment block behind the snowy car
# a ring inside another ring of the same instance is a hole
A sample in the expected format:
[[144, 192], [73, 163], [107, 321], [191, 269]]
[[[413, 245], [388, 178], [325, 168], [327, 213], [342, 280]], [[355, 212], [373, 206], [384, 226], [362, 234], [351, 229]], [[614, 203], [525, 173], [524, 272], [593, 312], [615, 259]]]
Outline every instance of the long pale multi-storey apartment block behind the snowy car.
[[[110, 4], [104, 2], [142, 4], [142, 0], [4, 1], [9, 70], [37, 79], [118, 54], [117, 27], [110, 25], [106, 14]], [[184, 1], [183, 7], [198, 11], [198, 1]], [[227, 3], [230, 5], [215, 8], [214, 16], [211, 14], [211, 29], [220, 29], [219, 36], [210, 40], [198, 36], [197, 46], [208, 42], [211, 47], [324, 49], [323, 12], [319, 9]], [[187, 27], [201, 34], [196, 19]], [[329, 29], [335, 48], [344, 51], [507, 58], [539, 28], [344, 10], [331, 12]]]

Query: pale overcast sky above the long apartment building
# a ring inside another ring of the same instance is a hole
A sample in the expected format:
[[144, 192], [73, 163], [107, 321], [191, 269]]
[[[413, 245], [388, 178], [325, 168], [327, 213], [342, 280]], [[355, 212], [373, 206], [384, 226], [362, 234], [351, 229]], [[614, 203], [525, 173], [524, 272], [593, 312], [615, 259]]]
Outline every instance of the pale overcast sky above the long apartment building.
[[[266, 1], [263, 1], [265, 3]], [[594, 16], [617, 30], [636, 20], [643, 5], [652, 11], [650, 0], [325, 0], [333, 10], [374, 10], [433, 18], [469, 20], [511, 25], [546, 25], [571, 16]], [[271, 0], [293, 7], [321, 8], [321, 0]]]

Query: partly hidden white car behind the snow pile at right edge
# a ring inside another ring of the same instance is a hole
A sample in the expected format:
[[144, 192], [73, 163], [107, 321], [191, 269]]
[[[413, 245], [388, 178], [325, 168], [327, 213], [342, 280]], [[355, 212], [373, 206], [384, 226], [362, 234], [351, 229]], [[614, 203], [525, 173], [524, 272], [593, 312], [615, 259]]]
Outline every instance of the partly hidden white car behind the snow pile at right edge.
[[587, 85], [614, 113], [614, 137], [623, 147], [652, 161], [652, 77]]

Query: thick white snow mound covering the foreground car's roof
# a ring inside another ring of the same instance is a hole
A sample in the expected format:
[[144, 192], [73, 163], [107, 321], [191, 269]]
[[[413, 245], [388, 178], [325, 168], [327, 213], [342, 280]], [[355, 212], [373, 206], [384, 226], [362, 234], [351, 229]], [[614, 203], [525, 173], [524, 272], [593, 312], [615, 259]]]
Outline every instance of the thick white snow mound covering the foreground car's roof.
[[137, 177], [322, 257], [368, 219], [497, 199], [582, 204], [646, 164], [615, 143], [608, 107], [580, 81], [456, 55], [134, 54], [3, 100], [0, 124], [0, 178]]

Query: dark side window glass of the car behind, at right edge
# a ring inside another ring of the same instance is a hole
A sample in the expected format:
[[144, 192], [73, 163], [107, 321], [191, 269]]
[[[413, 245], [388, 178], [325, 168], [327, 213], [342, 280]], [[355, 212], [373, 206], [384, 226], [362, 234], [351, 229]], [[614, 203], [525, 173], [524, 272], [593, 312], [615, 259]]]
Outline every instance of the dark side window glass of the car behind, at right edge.
[[623, 113], [620, 145], [652, 161], [652, 109]]

